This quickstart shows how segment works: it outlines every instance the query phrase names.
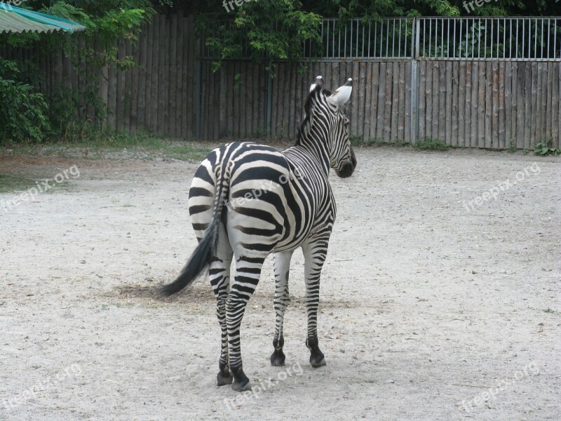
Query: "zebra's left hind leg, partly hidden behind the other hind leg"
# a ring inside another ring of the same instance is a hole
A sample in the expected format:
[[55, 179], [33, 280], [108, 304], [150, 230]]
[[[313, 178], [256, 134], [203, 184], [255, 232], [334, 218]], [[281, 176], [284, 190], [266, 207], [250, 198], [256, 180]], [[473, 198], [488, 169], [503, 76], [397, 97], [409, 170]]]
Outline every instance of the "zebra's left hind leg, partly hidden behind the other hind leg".
[[216, 315], [221, 330], [220, 359], [218, 361], [219, 371], [216, 376], [218, 386], [231, 385], [234, 381], [228, 363], [228, 329], [226, 323], [226, 300], [230, 290], [230, 265], [233, 254], [234, 252], [228, 242], [226, 230], [221, 224], [219, 227], [216, 255], [212, 258], [208, 266], [208, 277], [210, 278], [212, 291], [215, 293]]

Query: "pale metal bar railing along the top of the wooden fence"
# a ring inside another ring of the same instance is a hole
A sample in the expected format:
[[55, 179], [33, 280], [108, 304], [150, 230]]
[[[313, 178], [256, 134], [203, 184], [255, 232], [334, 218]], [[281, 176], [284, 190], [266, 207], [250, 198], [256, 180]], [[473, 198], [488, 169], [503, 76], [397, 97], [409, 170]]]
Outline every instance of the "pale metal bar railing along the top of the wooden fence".
[[[202, 38], [239, 30], [231, 22], [223, 25], [208, 28]], [[561, 17], [323, 19], [318, 32], [320, 42], [304, 41], [303, 58], [561, 60]], [[236, 58], [248, 57], [247, 42], [236, 50]], [[199, 56], [218, 58], [204, 42]]]

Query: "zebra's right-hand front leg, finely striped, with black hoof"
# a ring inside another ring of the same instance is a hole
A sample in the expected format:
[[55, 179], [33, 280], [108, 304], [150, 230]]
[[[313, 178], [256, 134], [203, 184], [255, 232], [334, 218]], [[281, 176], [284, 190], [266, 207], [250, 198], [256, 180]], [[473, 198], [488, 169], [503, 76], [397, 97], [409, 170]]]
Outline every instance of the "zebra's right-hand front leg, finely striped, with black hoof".
[[310, 350], [312, 367], [325, 366], [325, 356], [318, 345], [318, 307], [320, 301], [320, 275], [327, 255], [327, 238], [309, 241], [302, 246], [304, 252], [304, 276], [306, 278], [306, 308], [308, 313], [308, 338], [306, 347]]

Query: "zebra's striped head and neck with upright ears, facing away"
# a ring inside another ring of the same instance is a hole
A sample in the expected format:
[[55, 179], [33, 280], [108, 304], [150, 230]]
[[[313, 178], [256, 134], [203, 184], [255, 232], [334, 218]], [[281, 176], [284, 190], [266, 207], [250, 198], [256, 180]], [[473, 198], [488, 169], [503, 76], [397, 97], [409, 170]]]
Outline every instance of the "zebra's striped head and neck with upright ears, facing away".
[[351, 97], [352, 84], [353, 79], [349, 78], [332, 93], [323, 88], [323, 77], [318, 76], [313, 81], [297, 141], [297, 144], [311, 142], [325, 150], [328, 165], [341, 178], [350, 177], [356, 167], [355, 153], [349, 141], [349, 119], [342, 112]]

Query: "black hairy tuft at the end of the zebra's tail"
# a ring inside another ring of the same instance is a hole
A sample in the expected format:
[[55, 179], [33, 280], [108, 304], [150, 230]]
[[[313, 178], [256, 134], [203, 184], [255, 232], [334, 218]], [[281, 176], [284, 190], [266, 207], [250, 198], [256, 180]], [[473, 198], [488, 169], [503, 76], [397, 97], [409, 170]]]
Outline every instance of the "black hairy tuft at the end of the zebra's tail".
[[207, 267], [214, 246], [212, 229], [209, 229], [208, 232], [205, 233], [203, 239], [198, 243], [197, 248], [195, 248], [191, 258], [189, 258], [189, 262], [187, 262], [187, 265], [182, 269], [180, 276], [177, 276], [177, 279], [172, 283], [168, 283], [168, 285], [159, 288], [158, 293], [168, 297], [186, 286], [190, 286], [203, 272], [205, 267]]

